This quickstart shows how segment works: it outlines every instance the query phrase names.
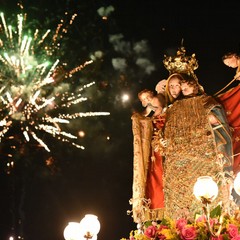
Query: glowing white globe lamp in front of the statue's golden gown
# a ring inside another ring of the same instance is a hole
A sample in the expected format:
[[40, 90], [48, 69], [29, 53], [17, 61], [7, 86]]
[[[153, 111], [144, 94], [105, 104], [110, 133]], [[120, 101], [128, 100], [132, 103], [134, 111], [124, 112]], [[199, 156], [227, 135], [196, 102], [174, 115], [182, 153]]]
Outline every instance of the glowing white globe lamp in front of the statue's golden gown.
[[213, 181], [212, 177], [199, 177], [193, 187], [193, 194], [199, 201], [206, 199], [212, 202], [218, 195], [217, 183]]

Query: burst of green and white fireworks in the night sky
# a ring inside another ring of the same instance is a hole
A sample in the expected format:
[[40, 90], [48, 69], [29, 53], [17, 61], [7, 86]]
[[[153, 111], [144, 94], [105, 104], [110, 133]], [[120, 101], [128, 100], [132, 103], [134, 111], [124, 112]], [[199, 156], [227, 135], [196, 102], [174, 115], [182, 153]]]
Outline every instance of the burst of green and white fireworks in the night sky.
[[[69, 25], [76, 16], [71, 17]], [[33, 31], [24, 28], [25, 15], [17, 15], [16, 26], [8, 25], [3, 13], [0, 17], [0, 141], [13, 138], [9, 130], [17, 127], [24, 142], [36, 141], [47, 151], [50, 149], [41, 138], [42, 133], [84, 149], [74, 142], [77, 136], [62, 130], [62, 125], [79, 117], [109, 115], [68, 111], [87, 101], [82, 92], [94, 82], [73, 92], [69, 81], [92, 61], [66, 71], [67, 64], [54, 59], [61, 46], [58, 40], [67, 33], [63, 21], [53, 34], [51, 30], [41, 34], [35, 29], [29, 36]]]

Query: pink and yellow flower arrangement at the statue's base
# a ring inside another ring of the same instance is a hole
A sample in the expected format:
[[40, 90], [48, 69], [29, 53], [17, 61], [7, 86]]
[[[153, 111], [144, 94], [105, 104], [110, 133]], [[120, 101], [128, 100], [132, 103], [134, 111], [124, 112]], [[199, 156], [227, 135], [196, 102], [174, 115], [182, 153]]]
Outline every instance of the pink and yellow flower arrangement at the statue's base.
[[240, 212], [232, 216], [220, 212], [217, 207], [208, 219], [205, 215], [196, 215], [194, 220], [146, 222], [142, 229], [131, 231], [128, 239], [121, 240], [240, 240]]

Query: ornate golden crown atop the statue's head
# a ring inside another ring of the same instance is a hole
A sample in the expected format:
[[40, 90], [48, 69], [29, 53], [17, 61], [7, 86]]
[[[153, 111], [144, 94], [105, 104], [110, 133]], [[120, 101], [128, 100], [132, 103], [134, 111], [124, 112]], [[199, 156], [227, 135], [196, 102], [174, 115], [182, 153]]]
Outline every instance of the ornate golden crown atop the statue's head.
[[194, 70], [198, 68], [195, 53], [191, 56], [186, 56], [186, 50], [183, 46], [179, 48], [175, 57], [164, 55], [163, 64], [169, 71], [169, 74], [186, 73], [195, 75]]

